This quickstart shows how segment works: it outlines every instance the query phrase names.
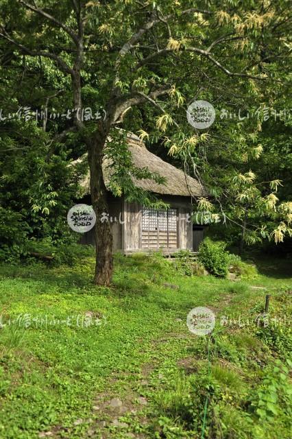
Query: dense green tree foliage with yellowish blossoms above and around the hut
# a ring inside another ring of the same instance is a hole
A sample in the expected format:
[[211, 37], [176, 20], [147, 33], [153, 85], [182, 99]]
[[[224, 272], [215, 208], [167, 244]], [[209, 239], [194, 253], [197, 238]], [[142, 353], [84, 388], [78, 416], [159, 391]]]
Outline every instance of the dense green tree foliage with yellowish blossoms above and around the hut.
[[[291, 235], [291, 120], [280, 115], [291, 108], [289, 1], [209, 3], [1, 1], [1, 206], [21, 213], [29, 233], [62, 234], [82, 176], [68, 164], [100, 138], [95, 114], [104, 109], [106, 135], [140, 132], [154, 152], [204, 180], [214, 198], [194, 201], [232, 225], [234, 240]], [[81, 130], [76, 96], [90, 109]], [[204, 132], [186, 121], [193, 99], [217, 104]], [[45, 107], [49, 117], [35, 120]], [[114, 193], [153, 202], [129, 176], [150, 177], [147, 169], [134, 169], [119, 142], [107, 153], [117, 157]]]

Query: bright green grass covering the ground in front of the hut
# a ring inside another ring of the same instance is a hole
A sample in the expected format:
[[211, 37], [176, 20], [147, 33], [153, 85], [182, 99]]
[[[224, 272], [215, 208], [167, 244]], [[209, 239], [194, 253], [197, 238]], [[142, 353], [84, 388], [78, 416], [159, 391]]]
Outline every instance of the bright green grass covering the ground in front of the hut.
[[[262, 260], [263, 274], [245, 270], [232, 282], [182, 276], [159, 254], [117, 255], [112, 288], [92, 284], [93, 268], [90, 257], [72, 267], [1, 265], [1, 438], [201, 438], [206, 397], [205, 438], [291, 437], [291, 381], [284, 369], [273, 377], [276, 359], [287, 366], [291, 329], [254, 322], [267, 293], [271, 318], [291, 316], [281, 261]], [[197, 306], [216, 313], [209, 344], [186, 327]], [[125, 412], [108, 410], [114, 397]]]

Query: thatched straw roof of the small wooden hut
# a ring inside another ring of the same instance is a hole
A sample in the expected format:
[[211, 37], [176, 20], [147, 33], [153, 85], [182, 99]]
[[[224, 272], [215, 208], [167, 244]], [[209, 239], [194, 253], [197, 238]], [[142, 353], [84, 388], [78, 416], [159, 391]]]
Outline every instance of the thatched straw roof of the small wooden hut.
[[[163, 195], [182, 195], [188, 197], [191, 195], [207, 195], [204, 187], [201, 187], [201, 185], [197, 180], [195, 180], [195, 178], [186, 176], [181, 169], [170, 165], [155, 154], [152, 154], [145, 147], [145, 143], [143, 143], [135, 134], [127, 134], [127, 143], [132, 154], [132, 161], [136, 167], [147, 167], [151, 173], [155, 172], [164, 177], [166, 180], [165, 184], [159, 185], [151, 179], [133, 179], [137, 187], [141, 187], [141, 189]], [[110, 167], [108, 167], [108, 161], [105, 160], [103, 165], [103, 173], [106, 187], [109, 187], [109, 169]], [[84, 189], [84, 194], [90, 192], [89, 173], [82, 182], [82, 189]]]

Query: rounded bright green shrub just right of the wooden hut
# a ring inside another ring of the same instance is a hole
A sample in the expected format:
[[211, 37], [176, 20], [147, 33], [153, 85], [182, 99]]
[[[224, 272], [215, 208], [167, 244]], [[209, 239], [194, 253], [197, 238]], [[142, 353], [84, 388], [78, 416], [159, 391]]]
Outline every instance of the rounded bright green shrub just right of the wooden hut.
[[225, 277], [228, 273], [230, 256], [225, 248], [223, 241], [215, 242], [210, 238], [204, 239], [199, 245], [199, 262], [215, 276]]

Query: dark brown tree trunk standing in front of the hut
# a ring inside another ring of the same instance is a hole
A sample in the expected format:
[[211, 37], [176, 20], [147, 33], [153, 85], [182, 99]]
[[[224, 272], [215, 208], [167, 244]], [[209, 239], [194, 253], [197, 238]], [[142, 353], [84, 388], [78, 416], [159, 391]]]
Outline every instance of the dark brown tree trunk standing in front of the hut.
[[112, 230], [110, 222], [101, 222], [103, 213], [108, 213], [107, 191], [102, 174], [104, 145], [108, 132], [102, 124], [88, 145], [88, 163], [90, 168], [90, 193], [93, 209], [97, 217], [95, 224], [95, 285], [109, 286], [112, 282]]

